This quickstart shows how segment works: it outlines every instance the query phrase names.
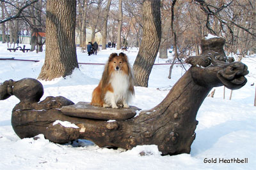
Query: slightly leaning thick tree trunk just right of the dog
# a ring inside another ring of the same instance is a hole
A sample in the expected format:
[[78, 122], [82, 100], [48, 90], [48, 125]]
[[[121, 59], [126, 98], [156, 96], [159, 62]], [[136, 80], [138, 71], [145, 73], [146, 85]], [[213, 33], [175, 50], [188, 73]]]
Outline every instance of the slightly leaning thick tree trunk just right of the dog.
[[161, 41], [160, 1], [143, 2], [143, 37], [133, 65], [137, 86], [148, 87], [148, 78], [156, 60]]

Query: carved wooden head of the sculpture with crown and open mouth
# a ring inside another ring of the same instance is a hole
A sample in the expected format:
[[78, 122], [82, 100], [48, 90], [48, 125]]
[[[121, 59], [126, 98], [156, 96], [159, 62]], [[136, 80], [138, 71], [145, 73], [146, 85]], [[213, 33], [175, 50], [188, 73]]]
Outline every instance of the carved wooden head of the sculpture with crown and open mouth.
[[202, 86], [218, 87], [225, 85], [228, 89], [240, 89], [247, 80], [248, 67], [242, 62], [234, 62], [223, 50], [225, 39], [202, 39], [202, 55], [191, 56], [185, 60], [191, 64], [193, 79]]

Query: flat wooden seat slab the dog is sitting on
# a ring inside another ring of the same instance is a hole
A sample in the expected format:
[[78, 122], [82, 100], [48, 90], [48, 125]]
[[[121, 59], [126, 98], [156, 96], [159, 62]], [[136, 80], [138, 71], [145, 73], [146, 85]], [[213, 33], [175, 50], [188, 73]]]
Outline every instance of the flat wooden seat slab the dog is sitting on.
[[127, 120], [136, 115], [135, 106], [130, 108], [113, 109], [92, 106], [88, 102], [79, 102], [70, 106], [63, 106], [61, 112], [70, 117], [93, 118], [99, 120]]

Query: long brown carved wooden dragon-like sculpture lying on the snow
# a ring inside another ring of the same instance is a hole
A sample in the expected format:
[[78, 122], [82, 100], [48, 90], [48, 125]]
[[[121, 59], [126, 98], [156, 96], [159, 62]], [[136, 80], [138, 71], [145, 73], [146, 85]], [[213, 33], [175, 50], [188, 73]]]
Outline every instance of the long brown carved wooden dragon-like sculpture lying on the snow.
[[[44, 90], [39, 81], [31, 78], [4, 81], [0, 99], [11, 95], [20, 99], [12, 111], [12, 126], [20, 138], [44, 134], [54, 143], [89, 139], [100, 147], [130, 150], [137, 145], [157, 145], [163, 155], [189, 153], [196, 136], [196, 113], [212, 87], [239, 89], [245, 85], [244, 76], [248, 74], [246, 65], [225, 56], [225, 39], [204, 39], [202, 43], [202, 55], [188, 57], [186, 62], [192, 66], [163, 101], [150, 110], [140, 111], [137, 117], [133, 117], [138, 109], [134, 107], [112, 110], [80, 103], [90, 109], [81, 111], [79, 103], [74, 105], [65, 97], [50, 96], [38, 102]], [[122, 117], [123, 113], [129, 117]], [[56, 120], [68, 121], [77, 128], [54, 124]]]

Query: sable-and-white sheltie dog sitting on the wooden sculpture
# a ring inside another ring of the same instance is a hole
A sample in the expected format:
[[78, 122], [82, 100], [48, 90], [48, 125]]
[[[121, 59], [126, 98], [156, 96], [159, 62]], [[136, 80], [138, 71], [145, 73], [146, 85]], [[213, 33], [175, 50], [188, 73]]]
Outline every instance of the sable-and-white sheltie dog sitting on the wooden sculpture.
[[132, 69], [125, 53], [111, 53], [102, 73], [99, 85], [93, 90], [93, 106], [104, 108], [129, 108], [134, 95]]

